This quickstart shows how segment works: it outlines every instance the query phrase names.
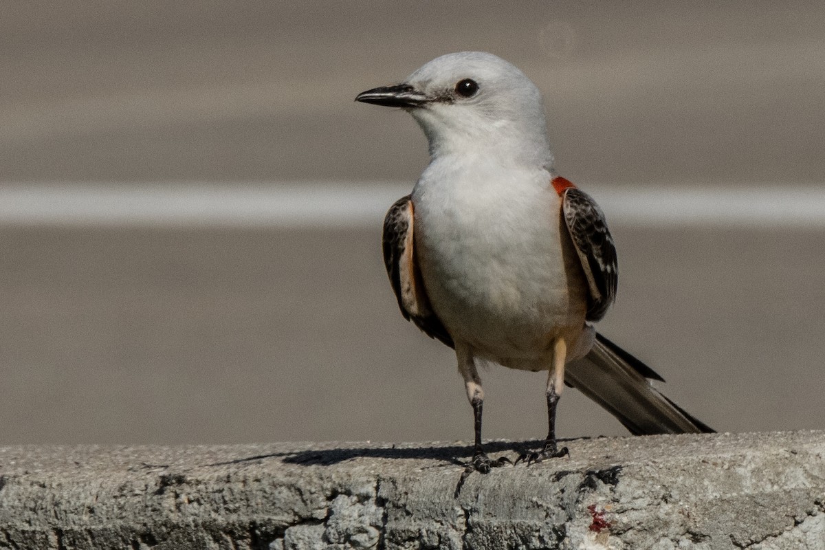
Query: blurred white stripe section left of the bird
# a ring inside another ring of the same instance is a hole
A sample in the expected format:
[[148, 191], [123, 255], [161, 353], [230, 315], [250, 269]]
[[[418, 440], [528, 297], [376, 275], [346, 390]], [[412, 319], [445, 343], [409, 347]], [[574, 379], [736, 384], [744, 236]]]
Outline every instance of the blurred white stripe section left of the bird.
[[344, 228], [380, 224], [408, 192], [347, 183], [0, 186], [0, 223]]

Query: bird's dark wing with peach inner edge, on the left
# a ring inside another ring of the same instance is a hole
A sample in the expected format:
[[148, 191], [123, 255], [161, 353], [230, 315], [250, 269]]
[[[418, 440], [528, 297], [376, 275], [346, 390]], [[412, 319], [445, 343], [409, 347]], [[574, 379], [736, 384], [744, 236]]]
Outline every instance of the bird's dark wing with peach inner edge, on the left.
[[384, 218], [384, 266], [393, 286], [398, 308], [424, 334], [455, 347], [447, 329], [430, 307], [413, 246], [413, 200], [410, 195], [395, 201]]

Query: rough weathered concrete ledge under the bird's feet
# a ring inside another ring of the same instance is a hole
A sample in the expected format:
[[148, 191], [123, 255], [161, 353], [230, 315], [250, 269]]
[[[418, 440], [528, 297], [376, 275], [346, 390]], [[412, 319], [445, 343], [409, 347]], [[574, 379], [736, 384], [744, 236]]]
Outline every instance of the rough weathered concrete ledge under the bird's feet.
[[5, 447], [0, 548], [825, 548], [825, 432], [568, 447], [458, 498], [460, 444]]

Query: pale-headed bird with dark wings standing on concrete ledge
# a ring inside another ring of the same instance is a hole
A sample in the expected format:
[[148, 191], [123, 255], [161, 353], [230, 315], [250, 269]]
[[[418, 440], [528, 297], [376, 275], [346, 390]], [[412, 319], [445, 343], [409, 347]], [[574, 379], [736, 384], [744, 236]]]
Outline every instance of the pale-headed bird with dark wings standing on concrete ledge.
[[713, 432], [596, 332], [616, 297], [615, 242], [596, 201], [555, 171], [530, 78], [496, 55], [458, 52], [356, 101], [407, 111], [427, 137], [429, 164], [384, 219], [384, 264], [403, 317], [455, 350], [473, 409], [469, 468], [511, 462], [483, 448], [479, 364], [548, 371], [544, 445], [516, 463], [568, 454], [555, 430], [565, 384], [634, 435]]

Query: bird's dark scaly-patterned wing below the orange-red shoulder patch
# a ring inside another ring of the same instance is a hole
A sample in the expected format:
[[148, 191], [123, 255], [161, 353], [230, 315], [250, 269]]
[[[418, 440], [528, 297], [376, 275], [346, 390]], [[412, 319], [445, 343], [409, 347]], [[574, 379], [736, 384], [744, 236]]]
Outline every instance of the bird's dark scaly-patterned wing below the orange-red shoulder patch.
[[613, 237], [607, 229], [605, 214], [584, 191], [576, 187], [564, 190], [562, 210], [590, 286], [587, 321], [598, 321], [614, 302], [619, 280]]

